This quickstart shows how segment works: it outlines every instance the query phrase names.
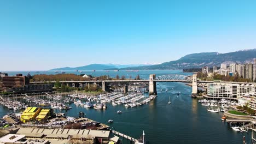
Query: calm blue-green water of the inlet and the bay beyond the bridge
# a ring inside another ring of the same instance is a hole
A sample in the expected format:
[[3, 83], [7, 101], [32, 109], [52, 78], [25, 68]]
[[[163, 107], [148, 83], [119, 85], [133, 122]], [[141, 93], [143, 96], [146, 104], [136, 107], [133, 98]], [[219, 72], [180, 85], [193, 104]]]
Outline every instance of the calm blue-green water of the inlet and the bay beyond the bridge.
[[[102, 71], [104, 74], [105, 72]], [[184, 74], [179, 70], [152, 70], [139, 71], [138, 73], [127, 73], [125, 71], [109, 72], [109, 75], [127, 74], [136, 76], [139, 74], [144, 79], [148, 79], [149, 74]], [[97, 71], [95, 75], [102, 75]], [[195, 143], [195, 144], [215, 144], [215, 143], [242, 143], [242, 137], [246, 136], [247, 143], [250, 142], [251, 133], [237, 133], [228, 125], [220, 121], [223, 113], [207, 112], [206, 107], [197, 103], [191, 98], [191, 87], [184, 83], [159, 82], [157, 85], [158, 97], [149, 104], [141, 107], [126, 109], [124, 106], [108, 105], [108, 109], [94, 110], [84, 109], [72, 104], [73, 109], [68, 111], [68, 116], [77, 116], [79, 111], [86, 113], [86, 117], [101, 123], [107, 123], [108, 119], [113, 119], [114, 123], [109, 124], [113, 129], [121, 133], [139, 138], [142, 130], [145, 131], [147, 143]], [[168, 92], [164, 92], [165, 89]], [[160, 92], [163, 89], [163, 92]], [[177, 93], [181, 95], [177, 97]], [[167, 105], [168, 97], [171, 96], [171, 105]], [[117, 114], [121, 110], [123, 113]], [[1, 114], [8, 111], [0, 109]], [[63, 111], [65, 112], [65, 111]], [[129, 143], [123, 140], [123, 143]]]

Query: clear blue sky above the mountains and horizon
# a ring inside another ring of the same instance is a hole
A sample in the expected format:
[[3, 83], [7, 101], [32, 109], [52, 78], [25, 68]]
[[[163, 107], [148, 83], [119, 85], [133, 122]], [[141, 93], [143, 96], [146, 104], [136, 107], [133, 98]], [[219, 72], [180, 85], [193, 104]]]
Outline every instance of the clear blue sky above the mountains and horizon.
[[256, 48], [256, 1], [2, 1], [0, 71]]

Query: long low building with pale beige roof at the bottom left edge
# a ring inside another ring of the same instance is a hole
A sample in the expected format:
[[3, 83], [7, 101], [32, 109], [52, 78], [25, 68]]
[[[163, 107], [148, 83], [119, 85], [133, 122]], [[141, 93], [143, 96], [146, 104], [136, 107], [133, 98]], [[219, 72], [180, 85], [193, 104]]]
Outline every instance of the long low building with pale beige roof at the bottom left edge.
[[46, 140], [50, 143], [119, 143], [119, 137], [108, 130], [20, 128], [16, 134], [26, 139]]

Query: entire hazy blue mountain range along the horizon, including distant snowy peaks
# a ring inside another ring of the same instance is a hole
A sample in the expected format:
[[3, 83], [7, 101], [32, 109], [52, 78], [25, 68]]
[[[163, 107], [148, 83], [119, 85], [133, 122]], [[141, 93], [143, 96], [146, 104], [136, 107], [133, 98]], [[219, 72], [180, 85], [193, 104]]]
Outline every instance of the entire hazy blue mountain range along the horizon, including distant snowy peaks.
[[218, 52], [202, 52], [193, 53], [186, 55], [176, 61], [170, 61], [155, 65], [146, 64], [131, 64], [131, 65], [120, 65], [120, 64], [90, 64], [83, 67], [76, 68], [57, 68], [51, 70], [134, 70], [134, 69], [189, 69], [189, 68], [201, 68], [204, 66], [213, 67], [214, 65], [220, 66], [221, 63], [248, 63], [253, 58], [256, 58], [256, 49], [241, 50], [229, 53], [218, 53]]

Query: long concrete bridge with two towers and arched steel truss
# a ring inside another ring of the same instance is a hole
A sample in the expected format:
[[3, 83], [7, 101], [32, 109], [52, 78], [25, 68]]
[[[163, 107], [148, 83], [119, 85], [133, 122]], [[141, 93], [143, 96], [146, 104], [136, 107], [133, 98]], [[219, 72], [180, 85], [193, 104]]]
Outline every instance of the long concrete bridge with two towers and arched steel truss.
[[[55, 83], [56, 81], [47, 81], [47, 83]], [[103, 91], [108, 91], [111, 86], [123, 86], [125, 92], [128, 86], [144, 86], [149, 88], [149, 94], [157, 94], [156, 82], [185, 82], [192, 83], [192, 94], [197, 94], [197, 87], [206, 87], [207, 83], [237, 83], [237, 84], [253, 84], [247, 82], [218, 82], [218, 81], [201, 81], [197, 80], [196, 74], [192, 76], [185, 75], [162, 75], [156, 77], [155, 74], [149, 75], [149, 80], [105, 80], [105, 81], [60, 81], [61, 85], [69, 87], [90, 87], [97, 85], [102, 87]], [[45, 83], [43, 81], [31, 82], [34, 84]], [[255, 83], [254, 83], [255, 84]]]

